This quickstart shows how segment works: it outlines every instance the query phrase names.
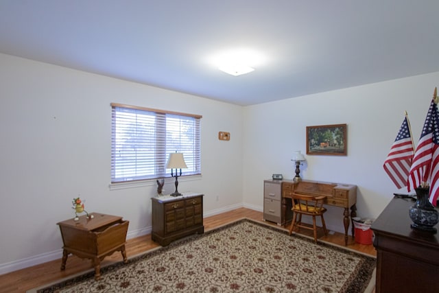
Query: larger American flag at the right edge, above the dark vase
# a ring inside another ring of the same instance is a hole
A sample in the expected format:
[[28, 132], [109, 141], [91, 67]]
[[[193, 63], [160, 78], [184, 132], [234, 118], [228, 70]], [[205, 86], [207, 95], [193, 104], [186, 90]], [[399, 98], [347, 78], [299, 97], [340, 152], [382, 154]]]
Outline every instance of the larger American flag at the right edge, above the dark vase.
[[[428, 109], [427, 117], [423, 131], [420, 134], [420, 139], [412, 167], [410, 168], [410, 176], [407, 180], [407, 189], [410, 187], [418, 187], [421, 182], [430, 184], [429, 201], [436, 206], [436, 201], [439, 196], [439, 113], [438, 105], [431, 99], [430, 108]], [[416, 172], [423, 174], [421, 182], [416, 179]]]

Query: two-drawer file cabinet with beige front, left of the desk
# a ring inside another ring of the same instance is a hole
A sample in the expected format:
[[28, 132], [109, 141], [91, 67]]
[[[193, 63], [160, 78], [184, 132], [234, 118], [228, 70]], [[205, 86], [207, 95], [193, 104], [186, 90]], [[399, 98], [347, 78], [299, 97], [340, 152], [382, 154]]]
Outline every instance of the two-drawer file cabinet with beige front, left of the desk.
[[263, 182], [263, 220], [285, 225], [292, 219], [292, 202], [282, 197], [282, 180]]

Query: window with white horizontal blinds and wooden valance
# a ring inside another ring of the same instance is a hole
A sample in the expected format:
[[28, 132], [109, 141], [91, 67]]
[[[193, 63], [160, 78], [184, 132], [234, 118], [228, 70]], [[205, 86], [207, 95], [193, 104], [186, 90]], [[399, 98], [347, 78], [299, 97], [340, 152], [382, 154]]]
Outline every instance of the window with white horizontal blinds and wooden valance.
[[201, 174], [200, 115], [111, 104], [111, 183], [170, 177], [171, 152], [182, 152], [182, 176]]

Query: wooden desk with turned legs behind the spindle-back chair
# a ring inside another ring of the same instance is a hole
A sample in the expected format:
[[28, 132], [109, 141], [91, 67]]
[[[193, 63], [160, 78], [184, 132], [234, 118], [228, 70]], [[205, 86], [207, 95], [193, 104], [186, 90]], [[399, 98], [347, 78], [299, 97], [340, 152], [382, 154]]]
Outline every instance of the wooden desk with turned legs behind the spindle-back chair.
[[[348, 245], [348, 228], [352, 220], [357, 216], [357, 186], [341, 183], [327, 183], [311, 180], [302, 180], [294, 182], [292, 180], [283, 180], [282, 197], [290, 198], [293, 194], [304, 194], [308, 196], [326, 196], [324, 204], [334, 207], [344, 208], [343, 224], [344, 224], [344, 244]], [[282, 200], [282, 213], [287, 214], [289, 203]], [[349, 212], [351, 209], [351, 212]], [[285, 216], [286, 218], [286, 216]], [[352, 224], [352, 235], [354, 236], [355, 228]]]

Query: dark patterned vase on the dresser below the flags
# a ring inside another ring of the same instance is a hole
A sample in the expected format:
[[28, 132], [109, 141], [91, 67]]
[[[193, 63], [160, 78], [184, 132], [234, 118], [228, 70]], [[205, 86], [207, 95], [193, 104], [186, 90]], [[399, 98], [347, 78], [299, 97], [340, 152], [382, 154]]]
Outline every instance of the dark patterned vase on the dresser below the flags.
[[439, 213], [428, 200], [430, 188], [418, 187], [415, 191], [416, 203], [409, 209], [413, 222], [410, 226], [416, 230], [436, 233], [437, 229], [434, 226], [439, 222]]

